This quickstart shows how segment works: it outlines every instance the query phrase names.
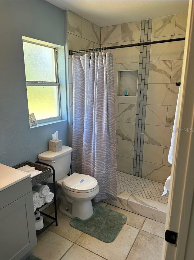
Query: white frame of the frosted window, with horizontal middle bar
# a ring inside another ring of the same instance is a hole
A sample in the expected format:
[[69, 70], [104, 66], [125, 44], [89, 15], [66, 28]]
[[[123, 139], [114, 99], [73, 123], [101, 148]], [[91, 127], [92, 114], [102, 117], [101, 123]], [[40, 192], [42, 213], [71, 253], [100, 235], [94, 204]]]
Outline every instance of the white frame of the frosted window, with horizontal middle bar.
[[37, 122], [38, 122], [38, 124], [42, 124], [42, 123], [61, 120], [62, 117], [61, 117], [61, 96], [60, 96], [60, 83], [59, 83], [59, 71], [58, 71], [58, 48], [52, 47], [52, 46], [49, 46], [49, 45], [46, 45], [46, 44], [39, 44], [39, 43], [36, 43], [36, 42], [33, 42], [33, 41], [27, 41], [27, 40], [24, 40], [24, 39], [22, 41], [54, 49], [56, 82], [55, 81], [26, 81], [26, 87], [27, 86], [57, 86], [58, 87], [59, 116], [37, 120]]

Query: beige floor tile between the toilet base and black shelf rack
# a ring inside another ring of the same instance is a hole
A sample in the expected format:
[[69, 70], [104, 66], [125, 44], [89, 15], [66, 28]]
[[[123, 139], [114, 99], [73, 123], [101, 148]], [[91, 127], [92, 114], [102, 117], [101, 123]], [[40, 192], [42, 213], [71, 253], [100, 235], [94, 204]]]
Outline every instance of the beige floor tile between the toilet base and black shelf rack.
[[58, 226], [56, 227], [54, 223], [49, 229], [60, 236], [75, 242], [82, 235], [82, 232], [70, 226], [69, 222], [72, 220], [71, 218], [65, 216], [59, 210], [57, 211], [57, 214]]

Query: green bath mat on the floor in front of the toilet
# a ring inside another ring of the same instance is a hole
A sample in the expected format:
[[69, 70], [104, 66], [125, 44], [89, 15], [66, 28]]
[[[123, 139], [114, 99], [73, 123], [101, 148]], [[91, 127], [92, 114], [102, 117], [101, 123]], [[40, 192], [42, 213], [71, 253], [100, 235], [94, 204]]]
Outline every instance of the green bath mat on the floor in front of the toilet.
[[94, 214], [86, 220], [74, 218], [70, 226], [103, 242], [115, 240], [127, 217], [122, 213], [94, 205]]

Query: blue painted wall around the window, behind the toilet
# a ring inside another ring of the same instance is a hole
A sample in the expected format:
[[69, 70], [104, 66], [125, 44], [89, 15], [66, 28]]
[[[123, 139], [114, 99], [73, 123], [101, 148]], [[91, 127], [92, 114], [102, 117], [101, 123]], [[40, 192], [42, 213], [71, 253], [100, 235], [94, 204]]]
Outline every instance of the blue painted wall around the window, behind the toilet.
[[29, 128], [22, 36], [65, 45], [64, 11], [46, 1], [0, 1], [0, 163], [35, 161], [52, 133], [67, 145], [68, 122]]

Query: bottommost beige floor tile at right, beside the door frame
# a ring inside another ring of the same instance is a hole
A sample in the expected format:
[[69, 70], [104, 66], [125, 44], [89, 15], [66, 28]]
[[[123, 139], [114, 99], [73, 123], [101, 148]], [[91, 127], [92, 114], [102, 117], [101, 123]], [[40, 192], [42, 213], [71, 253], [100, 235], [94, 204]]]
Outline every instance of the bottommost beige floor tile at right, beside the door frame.
[[127, 260], [160, 260], [163, 239], [140, 231]]

